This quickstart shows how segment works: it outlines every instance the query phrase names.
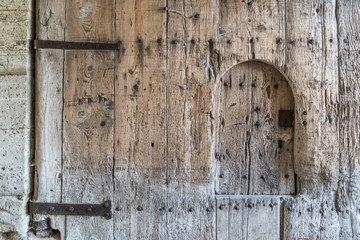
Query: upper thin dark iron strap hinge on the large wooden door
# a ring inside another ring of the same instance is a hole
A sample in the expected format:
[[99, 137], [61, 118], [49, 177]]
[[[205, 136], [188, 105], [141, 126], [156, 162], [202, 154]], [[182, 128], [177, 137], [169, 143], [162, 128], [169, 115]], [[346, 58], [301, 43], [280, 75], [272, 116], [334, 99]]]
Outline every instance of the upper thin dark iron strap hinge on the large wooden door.
[[51, 40], [34, 40], [34, 49], [73, 49], [73, 50], [120, 50], [121, 41], [117, 43], [66, 42]]

